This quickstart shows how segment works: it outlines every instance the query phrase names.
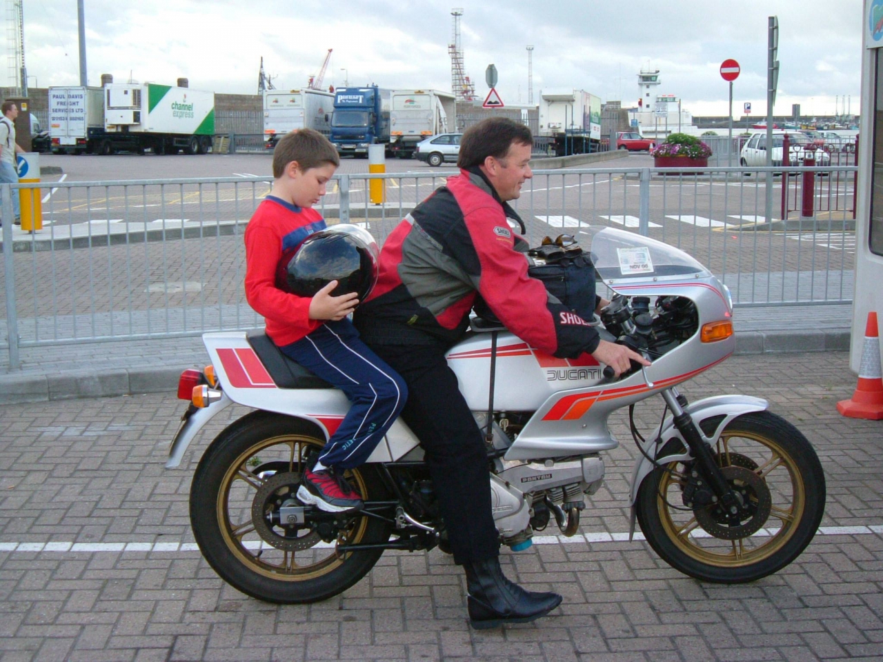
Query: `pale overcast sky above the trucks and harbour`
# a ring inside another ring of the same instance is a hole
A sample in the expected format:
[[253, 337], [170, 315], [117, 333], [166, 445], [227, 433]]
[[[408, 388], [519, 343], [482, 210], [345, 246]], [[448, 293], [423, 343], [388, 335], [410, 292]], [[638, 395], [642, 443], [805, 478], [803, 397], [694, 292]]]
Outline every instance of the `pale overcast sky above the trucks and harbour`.
[[[276, 87], [304, 87], [333, 49], [325, 86], [450, 90], [454, 6], [464, 12], [476, 94], [487, 94], [494, 63], [504, 103], [527, 102], [531, 44], [534, 101], [542, 89], [571, 87], [633, 106], [638, 71], [658, 68], [660, 94], [681, 97], [694, 115], [726, 115], [719, 68], [732, 57], [742, 67], [734, 114], [751, 102], [761, 116], [767, 17], [776, 15], [776, 114], [789, 115], [792, 103], [804, 115], [859, 109], [861, 0], [86, 0], [88, 82], [100, 85], [102, 73], [117, 82], [185, 77], [195, 89], [255, 94], [261, 56]], [[29, 85], [78, 84], [76, 0], [26, 0], [24, 17]]]

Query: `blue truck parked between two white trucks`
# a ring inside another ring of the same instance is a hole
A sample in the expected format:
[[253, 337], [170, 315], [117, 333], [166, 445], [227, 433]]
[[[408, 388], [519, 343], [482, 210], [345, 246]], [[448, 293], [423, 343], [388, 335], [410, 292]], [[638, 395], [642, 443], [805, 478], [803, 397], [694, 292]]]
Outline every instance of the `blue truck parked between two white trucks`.
[[335, 90], [331, 142], [338, 154], [367, 155], [369, 145], [389, 145], [389, 92], [376, 85]]

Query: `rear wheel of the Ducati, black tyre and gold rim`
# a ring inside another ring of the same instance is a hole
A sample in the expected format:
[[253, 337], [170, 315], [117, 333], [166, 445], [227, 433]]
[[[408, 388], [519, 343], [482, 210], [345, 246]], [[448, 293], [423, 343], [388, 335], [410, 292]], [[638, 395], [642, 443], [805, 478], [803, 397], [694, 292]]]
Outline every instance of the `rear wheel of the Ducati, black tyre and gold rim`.
[[[225, 582], [267, 602], [309, 603], [346, 591], [374, 567], [382, 549], [337, 545], [385, 543], [389, 519], [307, 507], [311, 520], [289, 523], [303, 508], [295, 498], [301, 473], [324, 444], [308, 421], [253, 411], [208, 447], [193, 475], [190, 520], [202, 555]], [[345, 478], [363, 500], [386, 495], [370, 464]]]

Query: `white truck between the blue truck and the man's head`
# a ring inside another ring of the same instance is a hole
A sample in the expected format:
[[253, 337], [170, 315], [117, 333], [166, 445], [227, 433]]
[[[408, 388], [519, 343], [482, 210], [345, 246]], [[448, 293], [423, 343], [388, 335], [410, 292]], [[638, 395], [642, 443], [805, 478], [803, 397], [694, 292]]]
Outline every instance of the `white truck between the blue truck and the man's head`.
[[456, 97], [439, 90], [393, 90], [390, 94], [389, 152], [410, 159], [420, 140], [453, 132]]

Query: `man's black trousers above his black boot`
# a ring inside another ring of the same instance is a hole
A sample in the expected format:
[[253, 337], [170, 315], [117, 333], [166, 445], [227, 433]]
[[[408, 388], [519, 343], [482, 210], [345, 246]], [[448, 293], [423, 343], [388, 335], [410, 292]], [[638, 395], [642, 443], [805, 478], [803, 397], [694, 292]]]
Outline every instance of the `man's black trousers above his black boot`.
[[454, 562], [463, 565], [499, 555], [487, 450], [457, 387], [457, 375], [445, 361], [445, 347], [372, 344], [371, 349], [408, 387], [402, 418], [426, 453]]

